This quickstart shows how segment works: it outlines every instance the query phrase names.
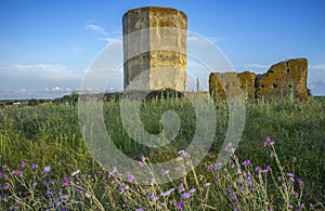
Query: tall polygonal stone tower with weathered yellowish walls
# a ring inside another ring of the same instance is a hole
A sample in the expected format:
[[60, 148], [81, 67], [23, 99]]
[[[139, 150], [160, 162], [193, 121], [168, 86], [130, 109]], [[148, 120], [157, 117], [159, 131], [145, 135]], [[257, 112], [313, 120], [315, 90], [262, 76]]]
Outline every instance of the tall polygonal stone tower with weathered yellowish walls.
[[134, 79], [147, 90], [184, 91], [187, 17], [170, 8], [147, 6], [122, 17], [123, 87]]

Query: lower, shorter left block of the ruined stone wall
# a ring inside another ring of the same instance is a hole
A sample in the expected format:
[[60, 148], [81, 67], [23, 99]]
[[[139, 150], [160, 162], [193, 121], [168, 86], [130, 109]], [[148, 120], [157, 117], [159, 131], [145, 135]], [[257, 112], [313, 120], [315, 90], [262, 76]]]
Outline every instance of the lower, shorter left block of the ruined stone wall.
[[209, 77], [210, 94], [218, 95], [221, 100], [226, 100], [227, 96], [235, 96], [239, 93], [247, 93], [248, 97], [255, 98], [255, 80], [253, 72], [244, 71], [237, 72], [211, 72]]

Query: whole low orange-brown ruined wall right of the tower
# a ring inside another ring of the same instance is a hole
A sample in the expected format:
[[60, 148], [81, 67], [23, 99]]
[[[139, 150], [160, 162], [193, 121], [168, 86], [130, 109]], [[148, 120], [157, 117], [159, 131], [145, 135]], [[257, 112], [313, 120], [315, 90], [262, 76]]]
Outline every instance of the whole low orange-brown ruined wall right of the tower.
[[268, 72], [262, 75], [250, 71], [211, 72], [209, 92], [212, 96], [226, 100], [226, 96], [238, 94], [239, 89], [248, 98], [272, 98], [288, 95], [292, 91], [297, 98], [306, 100], [308, 97], [307, 76], [307, 58], [294, 58], [272, 65]]

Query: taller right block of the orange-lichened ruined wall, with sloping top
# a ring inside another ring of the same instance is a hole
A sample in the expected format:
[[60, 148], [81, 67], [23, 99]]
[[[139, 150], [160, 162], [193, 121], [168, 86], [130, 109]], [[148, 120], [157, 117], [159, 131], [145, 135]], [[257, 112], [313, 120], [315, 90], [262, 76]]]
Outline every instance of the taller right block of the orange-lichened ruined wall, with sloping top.
[[258, 76], [257, 97], [287, 95], [294, 91], [296, 97], [304, 100], [308, 97], [307, 76], [307, 58], [294, 58], [272, 65], [266, 74]]

